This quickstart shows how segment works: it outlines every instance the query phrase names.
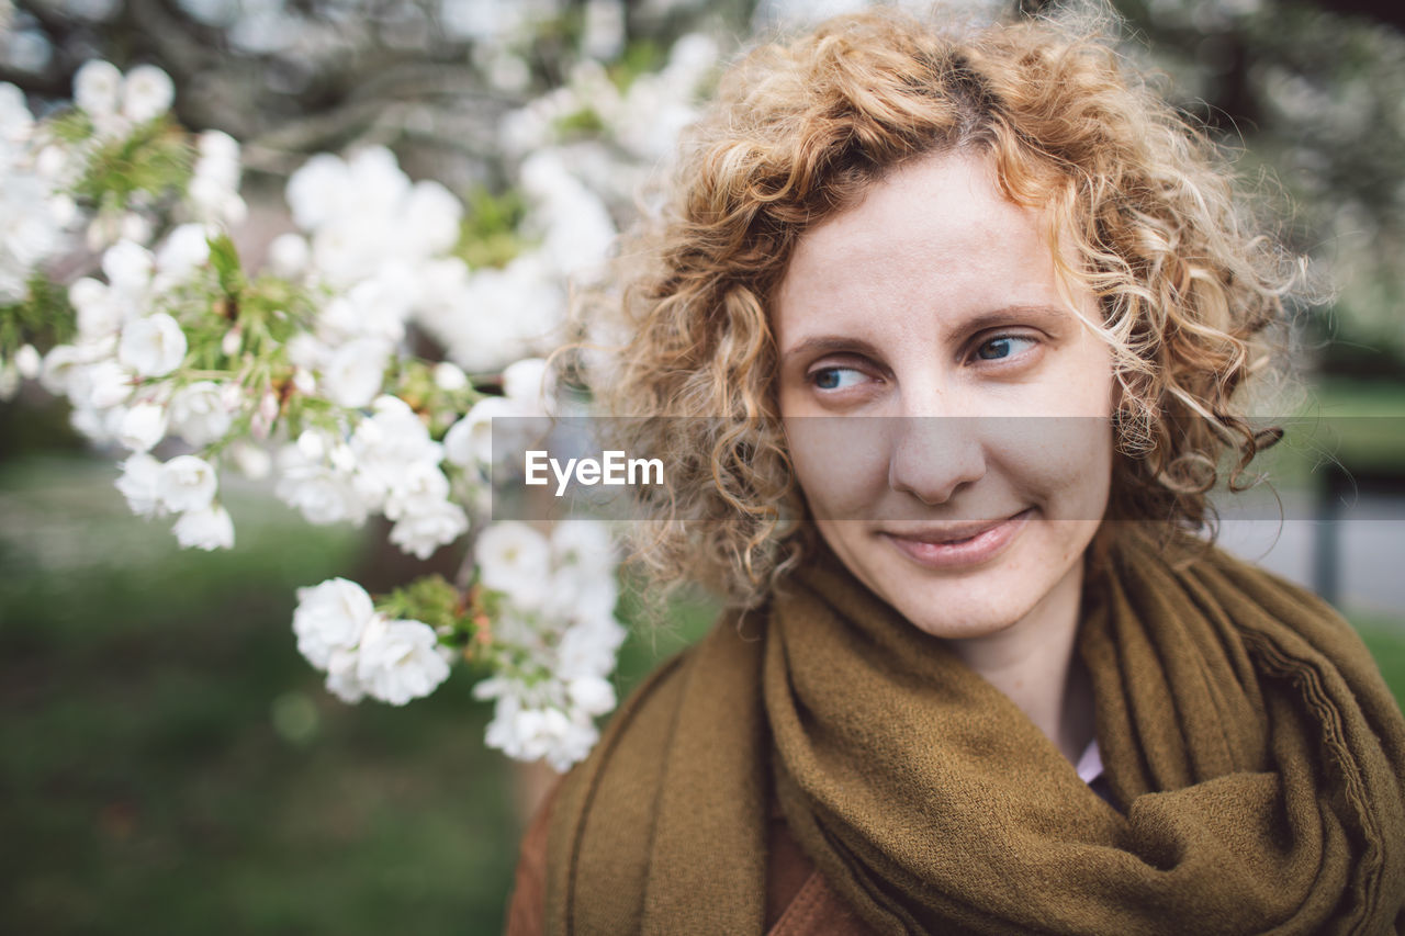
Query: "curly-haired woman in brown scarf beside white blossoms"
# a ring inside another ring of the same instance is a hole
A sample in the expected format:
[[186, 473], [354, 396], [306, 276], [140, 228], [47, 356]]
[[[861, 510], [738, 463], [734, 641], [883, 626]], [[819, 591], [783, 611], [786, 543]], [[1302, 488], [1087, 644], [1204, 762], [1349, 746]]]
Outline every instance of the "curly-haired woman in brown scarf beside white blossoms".
[[[659, 582], [740, 610], [528, 833], [509, 932], [1388, 933], [1405, 722], [1196, 540], [1288, 277], [1102, 45], [753, 53], [632, 254]], [[700, 417], [710, 419], [700, 419]]]

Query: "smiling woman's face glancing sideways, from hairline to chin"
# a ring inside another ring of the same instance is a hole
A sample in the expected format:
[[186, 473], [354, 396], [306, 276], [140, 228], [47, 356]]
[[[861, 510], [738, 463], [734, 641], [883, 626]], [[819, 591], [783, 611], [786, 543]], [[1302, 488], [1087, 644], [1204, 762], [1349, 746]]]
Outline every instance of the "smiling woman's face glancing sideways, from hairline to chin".
[[[1073, 600], [1107, 507], [1111, 354], [1061, 297], [1041, 215], [989, 159], [929, 156], [799, 240], [780, 409], [829, 547], [943, 638]], [[1065, 298], [1068, 297], [1068, 298]], [[816, 419], [823, 417], [823, 419]]]

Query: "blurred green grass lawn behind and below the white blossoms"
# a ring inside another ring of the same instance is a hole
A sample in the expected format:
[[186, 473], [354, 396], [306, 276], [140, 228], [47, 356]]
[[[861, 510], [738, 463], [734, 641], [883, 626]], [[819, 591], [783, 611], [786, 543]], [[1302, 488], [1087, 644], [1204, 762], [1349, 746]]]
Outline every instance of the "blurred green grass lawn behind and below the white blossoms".
[[[0, 932], [502, 932], [523, 776], [469, 680], [351, 707], [296, 652], [360, 535], [233, 490], [237, 548], [180, 551], [112, 478], [0, 462]], [[631, 637], [621, 691], [711, 617]], [[1405, 630], [1361, 630], [1405, 700]]]

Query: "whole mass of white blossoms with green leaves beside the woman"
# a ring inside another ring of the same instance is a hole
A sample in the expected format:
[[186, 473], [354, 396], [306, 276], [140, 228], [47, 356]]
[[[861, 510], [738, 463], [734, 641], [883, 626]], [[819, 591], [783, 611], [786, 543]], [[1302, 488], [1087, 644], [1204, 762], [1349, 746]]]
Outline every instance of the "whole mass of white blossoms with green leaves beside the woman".
[[[83, 436], [122, 453], [132, 512], [170, 519], [181, 547], [233, 545], [232, 468], [313, 524], [384, 516], [422, 559], [466, 542], [462, 587], [301, 589], [298, 648], [348, 703], [405, 704], [468, 661], [495, 704], [486, 742], [565, 769], [615, 704], [614, 550], [589, 521], [485, 523], [492, 424], [556, 412], [542, 358], [569, 337], [570, 282], [601, 268], [715, 58], [686, 38], [627, 90], [587, 63], [509, 115], [503, 204], [521, 211], [490, 250], [478, 202], [412, 180], [389, 149], [312, 156], [263, 268], [236, 247], [237, 141], [177, 126], [163, 72], [90, 62], [44, 121], [0, 86], [0, 398], [22, 379], [65, 396]], [[593, 142], [570, 128], [583, 110]], [[83, 257], [87, 275], [49, 278]], [[426, 339], [445, 360], [417, 354]]]

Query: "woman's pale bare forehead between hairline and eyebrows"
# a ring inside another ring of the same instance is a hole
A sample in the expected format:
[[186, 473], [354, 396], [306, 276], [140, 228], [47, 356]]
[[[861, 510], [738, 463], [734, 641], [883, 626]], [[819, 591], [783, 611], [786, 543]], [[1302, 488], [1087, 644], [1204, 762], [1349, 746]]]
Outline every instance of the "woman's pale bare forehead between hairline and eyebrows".
[[1061, 305], [1044, 226], [1043, 212], [1000, 194], [989, 157], [922, 157], [801, 238], [776, 297], [778, 337], [806, 323], [882, 316], [926, 329], [910, 313]]

